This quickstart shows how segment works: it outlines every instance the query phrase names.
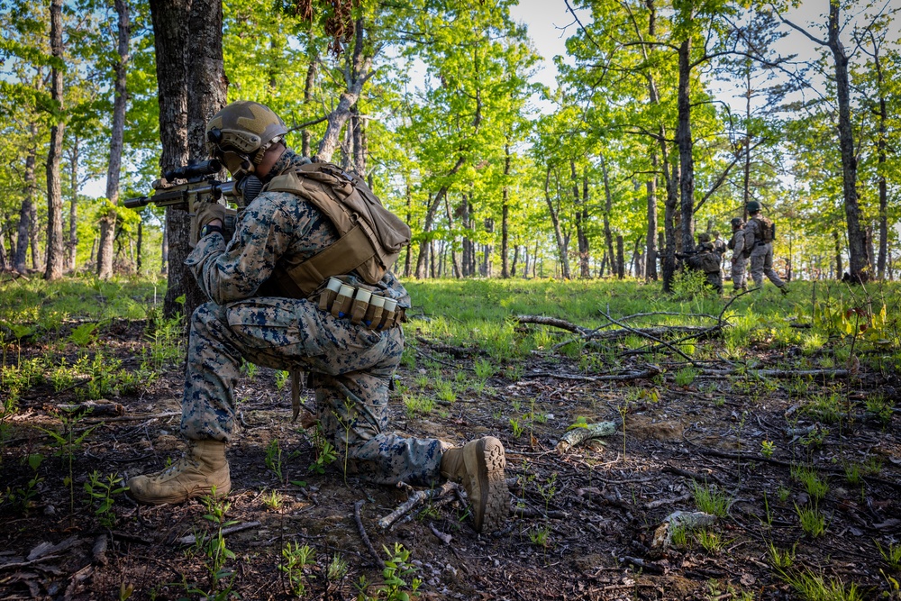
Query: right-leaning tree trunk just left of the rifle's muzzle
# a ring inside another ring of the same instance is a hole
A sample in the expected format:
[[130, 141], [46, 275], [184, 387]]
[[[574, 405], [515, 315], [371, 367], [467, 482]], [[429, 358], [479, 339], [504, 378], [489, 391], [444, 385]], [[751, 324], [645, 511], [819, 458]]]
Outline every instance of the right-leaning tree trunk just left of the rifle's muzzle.
[[106, 168], [106, 207], [100, 217], [100, 248], [97, 250], [97, 277], [102, 279], [113, 275], [115, 206], [119, 203], [119, 173], [122, 168], [125, 110], [128, 103], [128, 89], [125, 84], [131, 54], [128, 50], [128, 42], [132, 35], [128, 2], [126, 0], [114, 0], [114, 5], [115, 12], [119, 15], [119, 43], [117, 49], [119, 59], [114, 67], [113, 131], [110, 132], [110, 162]]

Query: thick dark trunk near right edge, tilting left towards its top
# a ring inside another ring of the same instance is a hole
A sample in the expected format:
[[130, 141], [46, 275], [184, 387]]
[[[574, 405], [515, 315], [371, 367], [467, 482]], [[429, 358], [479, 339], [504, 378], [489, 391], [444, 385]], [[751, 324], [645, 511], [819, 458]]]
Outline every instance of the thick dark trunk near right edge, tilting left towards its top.
[[829, 3], [829, 49], [835, 61], [835, 92], [839, 102], [839, 148], [842, 151], [842, 185], [844, 188], [845, 218], [848, 222], [848, 271], [851, 281], [866, 282], [870, 264], [866, 240], [860, 226], [860, 206], [857, 196], [857, 157], [851, 131], [851, 86], [848, 80], [848, 55], [839, 39], [841, 6], [837, 0]]

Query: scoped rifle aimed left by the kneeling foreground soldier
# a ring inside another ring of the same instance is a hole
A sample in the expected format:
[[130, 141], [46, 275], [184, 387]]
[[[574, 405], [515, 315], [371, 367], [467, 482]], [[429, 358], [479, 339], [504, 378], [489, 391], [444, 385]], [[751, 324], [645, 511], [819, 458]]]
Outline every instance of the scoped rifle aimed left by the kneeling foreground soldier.
[[[227, 203], [239, 205], [242, 210], [245, 196], [252, 198], [259, 194], [262, 184], [259, 179], [250, 177], [243, 178], [240, 182], [219, 181], [216, 179], [216, 175], [222, 168], [222, 163], [216, 159], [190, 162], [167, 171], [162, 178], [154, 181], [151, 196], [128, 198], [123, 205], [130, 209], [139, 209], [142, 206], [153, 204], [187, 211], [191, 216], [191, 239], [189, 242], [192, 248], [197, 243], [195, 221], [197, 206], [204, 202], [226, 205], [223, 235], [225, 240], [228, 240], [234, 233], [239, 210], [232, 209], [227, 206]], [[257, 187], [257, 189], [253, 190], [253, 187]]]

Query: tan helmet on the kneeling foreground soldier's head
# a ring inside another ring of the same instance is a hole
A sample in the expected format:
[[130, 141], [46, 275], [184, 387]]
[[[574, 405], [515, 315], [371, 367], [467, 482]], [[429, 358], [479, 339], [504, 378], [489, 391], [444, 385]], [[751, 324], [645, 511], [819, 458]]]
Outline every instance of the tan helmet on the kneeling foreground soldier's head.
[[253, 173], [266, 150], [286, 133], [285, 122], [268, 106], [239, 100], [206, 123], [206, 150], [232, 175]]

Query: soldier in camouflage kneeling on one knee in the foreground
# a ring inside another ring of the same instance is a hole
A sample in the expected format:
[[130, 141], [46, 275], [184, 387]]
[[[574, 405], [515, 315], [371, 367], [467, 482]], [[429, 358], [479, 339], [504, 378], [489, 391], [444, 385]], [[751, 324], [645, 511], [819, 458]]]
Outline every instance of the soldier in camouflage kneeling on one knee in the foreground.
[[[318, 427], [346, 458], [348, 475], [423, 487], [460, 482], [475, 529], [499, 529], [509, 511], [500, 441], [454, 447], [387, 430], [410, 296], [386, 267], [409, 228], [359, 177], [299, 156], [286, 134], [277, 114], [248, 101], [207, 123], [210, 155], [239, 182], [259, 179], [244, 187], [259, 196], [243, 198], [232, 235], [223, 232], [223, 205], [196, 211], [197, 243], [186, 264], [210, 302], [191, 316], [181, 419], [187, 451], [167, 469], [131, 478], [130, 494], [147, 504], [228, 494], [234, 387], [241, 362], [250, 361], [309, 372]], [[359, 216], [366, 212], [369, 221]]]

